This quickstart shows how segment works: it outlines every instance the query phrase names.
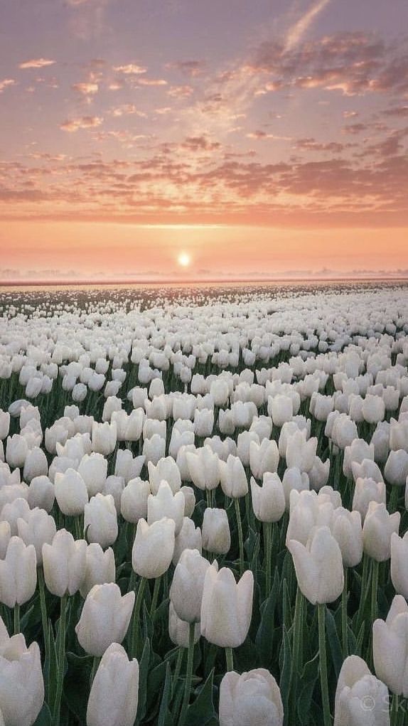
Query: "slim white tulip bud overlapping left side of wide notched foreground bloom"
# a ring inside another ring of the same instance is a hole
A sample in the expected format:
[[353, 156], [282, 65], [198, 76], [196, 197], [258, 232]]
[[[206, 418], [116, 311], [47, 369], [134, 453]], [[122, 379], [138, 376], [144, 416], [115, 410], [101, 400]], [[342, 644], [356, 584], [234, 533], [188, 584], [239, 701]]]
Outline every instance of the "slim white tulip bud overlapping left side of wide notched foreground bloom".
[[189, 623], [200, 620], [204, 579], [209, 566], [198, 550], [181, 553], [170, 587], [170, 600], [181, 620]]

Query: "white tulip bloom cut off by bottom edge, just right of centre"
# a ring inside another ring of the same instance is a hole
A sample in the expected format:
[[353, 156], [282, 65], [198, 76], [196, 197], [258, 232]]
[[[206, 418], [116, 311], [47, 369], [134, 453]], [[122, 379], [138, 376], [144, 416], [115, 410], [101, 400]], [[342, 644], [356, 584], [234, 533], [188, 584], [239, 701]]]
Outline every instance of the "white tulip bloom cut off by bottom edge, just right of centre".
[[283, 705], [276, 680], [264, 668], [227, 672], [219, 692], [220, 726], [282, 726]]

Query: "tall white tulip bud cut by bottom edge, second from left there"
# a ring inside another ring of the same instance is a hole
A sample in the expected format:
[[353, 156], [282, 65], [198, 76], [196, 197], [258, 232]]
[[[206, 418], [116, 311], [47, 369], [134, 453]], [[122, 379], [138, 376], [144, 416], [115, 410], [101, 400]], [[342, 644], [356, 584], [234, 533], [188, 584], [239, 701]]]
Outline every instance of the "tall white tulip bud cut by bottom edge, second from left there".
[[91, 685], [86, 726], [133, 726], [139, 696], [139, 664], [112, 643], [102, 656]]

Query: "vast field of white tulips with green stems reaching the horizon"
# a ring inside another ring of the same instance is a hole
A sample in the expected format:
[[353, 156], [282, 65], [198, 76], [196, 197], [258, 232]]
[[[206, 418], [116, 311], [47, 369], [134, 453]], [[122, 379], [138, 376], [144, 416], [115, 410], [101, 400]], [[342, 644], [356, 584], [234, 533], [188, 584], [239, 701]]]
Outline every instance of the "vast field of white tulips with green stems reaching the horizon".
[[0, 726], [408, 724], [408, 285], [0, 290]]

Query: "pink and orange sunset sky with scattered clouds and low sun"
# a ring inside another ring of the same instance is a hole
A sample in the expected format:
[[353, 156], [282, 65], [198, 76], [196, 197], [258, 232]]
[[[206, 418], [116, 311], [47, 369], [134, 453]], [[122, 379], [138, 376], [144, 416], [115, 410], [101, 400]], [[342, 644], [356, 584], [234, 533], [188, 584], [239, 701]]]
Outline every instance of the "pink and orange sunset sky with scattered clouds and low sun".
[[408, 275], [407, 0], [2, 0], [0, 280]]

